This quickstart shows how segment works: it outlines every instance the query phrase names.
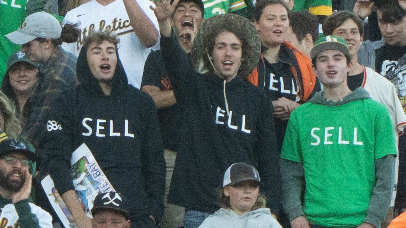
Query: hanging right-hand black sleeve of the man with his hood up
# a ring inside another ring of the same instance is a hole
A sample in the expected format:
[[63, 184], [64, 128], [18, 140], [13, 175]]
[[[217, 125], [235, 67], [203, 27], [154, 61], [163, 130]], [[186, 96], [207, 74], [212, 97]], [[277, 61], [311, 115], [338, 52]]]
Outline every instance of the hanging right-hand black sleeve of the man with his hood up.
[[150, 215], [160, 221], [164, 213], [165, 175], [164, 146], [158, 125], [155, 105], [150, 97], [145, 99], [143, 125], [143, 146], [141, 162], [145, 189], [150, 203]]

